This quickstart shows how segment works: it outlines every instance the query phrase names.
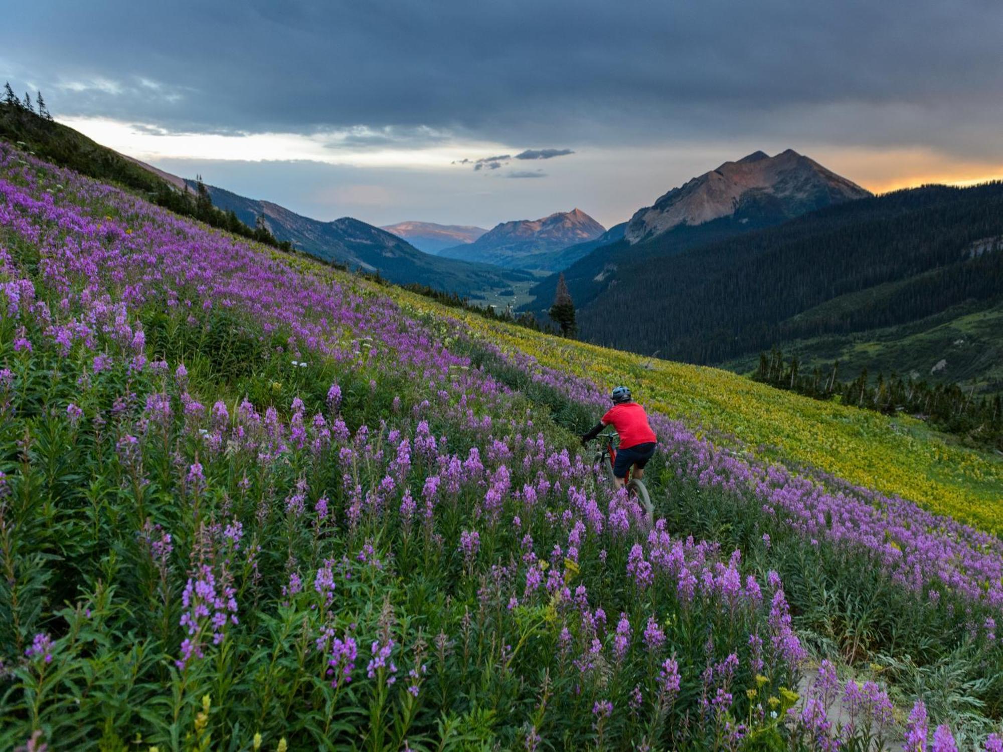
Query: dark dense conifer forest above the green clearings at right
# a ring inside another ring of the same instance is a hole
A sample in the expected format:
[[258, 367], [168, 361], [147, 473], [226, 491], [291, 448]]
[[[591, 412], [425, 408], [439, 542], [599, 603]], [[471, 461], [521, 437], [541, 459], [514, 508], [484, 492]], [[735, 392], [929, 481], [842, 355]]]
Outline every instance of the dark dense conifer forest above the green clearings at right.
[[[624, 266], [579, 325], [598, 343], [720, 363], [1003, 299], [1001, 238], [1003, 182], [862, 199]], [[610, 310], [643, 313], [623, 327]]]

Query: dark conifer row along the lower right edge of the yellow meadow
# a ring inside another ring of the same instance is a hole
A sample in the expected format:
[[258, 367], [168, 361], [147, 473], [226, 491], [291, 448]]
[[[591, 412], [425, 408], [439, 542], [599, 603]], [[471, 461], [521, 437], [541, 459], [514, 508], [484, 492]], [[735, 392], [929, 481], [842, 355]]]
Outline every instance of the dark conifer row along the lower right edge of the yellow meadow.
[[845, 405], [886, 415], [908, 413], [939, 430], [964, 437], [969, 443], [1003, 451], [1003, 396], [976, 394], [976, 385], [935, 384], [883, 373], [872, 381], [867, 369], [853, 381], [841, 381], [840, 362], [831, 367], [801, 368], [796, 357], [784, 360], [774, 347], [759, 353], [753, 380], [815, 399], [839, 397]]

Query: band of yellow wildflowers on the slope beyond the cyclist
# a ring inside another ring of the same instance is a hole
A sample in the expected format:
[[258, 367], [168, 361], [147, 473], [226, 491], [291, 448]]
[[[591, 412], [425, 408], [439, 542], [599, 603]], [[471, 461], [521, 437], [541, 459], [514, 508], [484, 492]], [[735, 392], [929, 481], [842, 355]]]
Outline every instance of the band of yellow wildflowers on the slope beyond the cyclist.
[[[409, 300], [426, 305], [423, 299]], [[699, 425], [722, 444], [901, 495], [986, 530], [1003, 530], [1003, 458], [958, 447], [921, 421], [819, 402], [717, 368], [644, 358], [469, 314], [463, 321], [549, 368], [604, 388], [629, 384], [644, 404]]]

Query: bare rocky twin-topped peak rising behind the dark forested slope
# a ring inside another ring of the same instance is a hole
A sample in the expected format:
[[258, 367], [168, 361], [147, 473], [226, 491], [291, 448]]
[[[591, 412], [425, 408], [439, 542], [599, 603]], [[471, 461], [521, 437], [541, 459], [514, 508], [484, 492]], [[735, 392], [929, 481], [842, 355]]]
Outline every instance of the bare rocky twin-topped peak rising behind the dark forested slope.
[[726, 161], [638, 210], [625, 238], [633, 245], [680, 225], [703, 225], [724, 217], [790, 219], [869, 196], [870, 191], [791, 148], [775, 156], [755, 151], [738, 161]]

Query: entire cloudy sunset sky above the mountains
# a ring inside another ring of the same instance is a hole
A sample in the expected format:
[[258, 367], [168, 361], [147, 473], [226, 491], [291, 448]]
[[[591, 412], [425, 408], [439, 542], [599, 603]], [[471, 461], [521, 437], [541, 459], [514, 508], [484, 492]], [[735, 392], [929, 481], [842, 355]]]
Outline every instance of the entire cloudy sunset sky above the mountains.
[[322, 220], [604, 225], [792, 147], [872, 191], [1003, 177], [998, 0], [17, 3], [0, 79]]

